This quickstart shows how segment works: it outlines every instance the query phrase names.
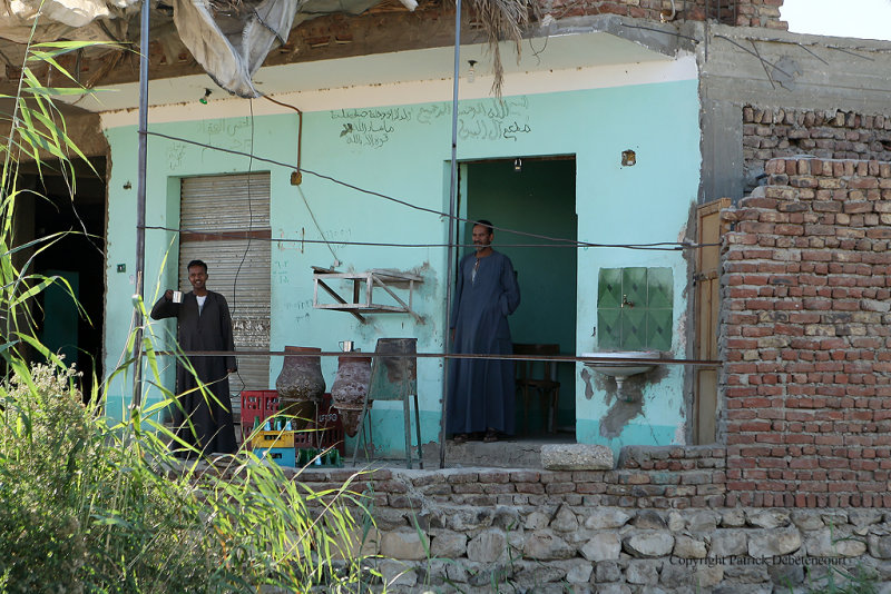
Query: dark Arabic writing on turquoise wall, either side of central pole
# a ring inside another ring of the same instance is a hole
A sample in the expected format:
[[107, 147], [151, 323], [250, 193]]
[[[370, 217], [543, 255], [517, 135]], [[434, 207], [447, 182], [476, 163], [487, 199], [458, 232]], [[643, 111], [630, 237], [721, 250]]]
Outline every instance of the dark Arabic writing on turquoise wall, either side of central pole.
[[[461, 140], [517, 141], [532, 131], [529, 101], [513, 97], [499, 101], [466, 101], [458, 107]], [[337, 109], [330, 112], [340, 138], [356, 147], [381, 148], [413, 125], [431, 126], [451, 118], [450, 102], [381, 109]]]

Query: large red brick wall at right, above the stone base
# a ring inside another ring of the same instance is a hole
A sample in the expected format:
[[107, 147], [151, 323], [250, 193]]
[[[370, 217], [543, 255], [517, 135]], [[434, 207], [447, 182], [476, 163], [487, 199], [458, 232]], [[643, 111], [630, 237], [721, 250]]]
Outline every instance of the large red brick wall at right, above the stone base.
[[891, 164], [774, 159], [725, 212], [727, 504], [891, 505]]

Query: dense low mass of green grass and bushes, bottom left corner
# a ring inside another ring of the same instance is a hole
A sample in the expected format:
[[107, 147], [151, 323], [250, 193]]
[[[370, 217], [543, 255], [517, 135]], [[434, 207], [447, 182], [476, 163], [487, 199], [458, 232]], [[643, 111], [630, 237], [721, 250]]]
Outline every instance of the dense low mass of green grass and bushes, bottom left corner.
[[354, 554], [351, 482], [313, 492], [252, 454], [183, 464], [138, 410], [102, 417], [74, 379], [39, 365], [0, 390], [3, 591], [336, 592], [374, 577]]

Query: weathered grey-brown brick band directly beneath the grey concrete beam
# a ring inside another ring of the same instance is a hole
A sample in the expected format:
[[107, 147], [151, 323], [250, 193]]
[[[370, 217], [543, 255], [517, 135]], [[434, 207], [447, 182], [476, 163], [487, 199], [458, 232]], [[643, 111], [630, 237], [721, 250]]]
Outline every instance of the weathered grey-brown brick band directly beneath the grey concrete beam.
[[774, 158], [891, 160], [891, 117], [842, 110], [743, 107], [743, 158], [748, 190]]

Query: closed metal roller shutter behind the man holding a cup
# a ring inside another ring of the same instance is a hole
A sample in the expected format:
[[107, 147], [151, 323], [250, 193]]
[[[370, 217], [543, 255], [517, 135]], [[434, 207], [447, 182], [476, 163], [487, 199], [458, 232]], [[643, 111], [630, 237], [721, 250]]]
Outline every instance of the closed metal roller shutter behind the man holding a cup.
[[[179, 286], [190, 290], [190, 260], [207, 263], [207, 287], [229, 304], [235, 349], [268, 350], [270, 175], [184, 178], [179, 217]], [[270, 359], [238, 357], [238, 373], [229, 378], [236, 418], [241, 390], [268, 387]]]

